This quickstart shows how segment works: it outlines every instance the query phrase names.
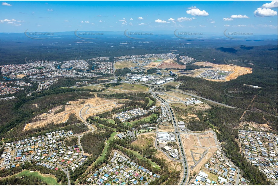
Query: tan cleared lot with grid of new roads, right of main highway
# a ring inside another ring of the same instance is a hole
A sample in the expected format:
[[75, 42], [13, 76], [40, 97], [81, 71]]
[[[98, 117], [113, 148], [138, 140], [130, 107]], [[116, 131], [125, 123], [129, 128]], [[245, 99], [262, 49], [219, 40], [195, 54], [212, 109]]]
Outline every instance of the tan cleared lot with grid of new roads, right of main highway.
[[[217, 150], [212, 133], [203, 135], [181, 135], [187, 161], [191, 169], [198, 172]], [[202, 158], [203, 157], [203, 158]], [[200, 160], [200, 161], [199, 161]]]

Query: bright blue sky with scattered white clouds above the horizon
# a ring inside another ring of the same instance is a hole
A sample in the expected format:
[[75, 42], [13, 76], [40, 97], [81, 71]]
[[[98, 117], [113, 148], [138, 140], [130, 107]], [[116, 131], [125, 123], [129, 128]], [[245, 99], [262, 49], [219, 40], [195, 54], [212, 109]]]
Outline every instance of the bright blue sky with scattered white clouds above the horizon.
[[1, 1], [0, 32], [223, 30], [277, 34], [272, 1]]

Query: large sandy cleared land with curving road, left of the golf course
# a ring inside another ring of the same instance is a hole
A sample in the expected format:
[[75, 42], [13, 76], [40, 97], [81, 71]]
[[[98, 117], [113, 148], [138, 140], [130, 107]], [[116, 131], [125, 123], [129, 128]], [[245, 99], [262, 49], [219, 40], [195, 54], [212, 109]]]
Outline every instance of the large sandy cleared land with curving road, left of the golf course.
[[[43, 126], [51, 122], [54, 123], [66, 122], [70, 114], [75, 114], [82, 121], [83, 119], [87, 119], [89, 116], [96, 115], [97, 113], [107, 111], [107, 110], [112, 110], [115, 107], [120, 107], [121, 104], [118, 105], [117, 101], [119, 100], [104, 99], [104, 98], [89, 98], [89, 99], [80, 99], [78, 101], [69, 101], [68, 104], [66, 105], [65, 111], [62, 111], [55, 115], [54, 113], [43, 113], [39, 116], [36, 116], [34, 117], [35, 122], [27, 123], [24, 127], [24, 130], [42, 128]], [[82, 102], [85, 103], [81, 104]]]

